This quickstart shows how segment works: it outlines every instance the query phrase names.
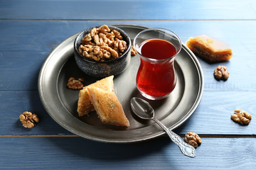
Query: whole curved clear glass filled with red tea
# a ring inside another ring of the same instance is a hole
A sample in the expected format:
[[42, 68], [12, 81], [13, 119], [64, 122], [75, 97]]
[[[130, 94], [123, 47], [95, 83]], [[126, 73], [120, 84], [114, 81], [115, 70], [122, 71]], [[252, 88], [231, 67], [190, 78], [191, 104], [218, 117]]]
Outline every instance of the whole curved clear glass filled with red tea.
[[141, 61], [137, 89], [150, 100], [166, 98], [176, 86], [174, 60], [181, 51], [181, 39], [171, 30], [149, 28], [138, 33], [133, 43]]

